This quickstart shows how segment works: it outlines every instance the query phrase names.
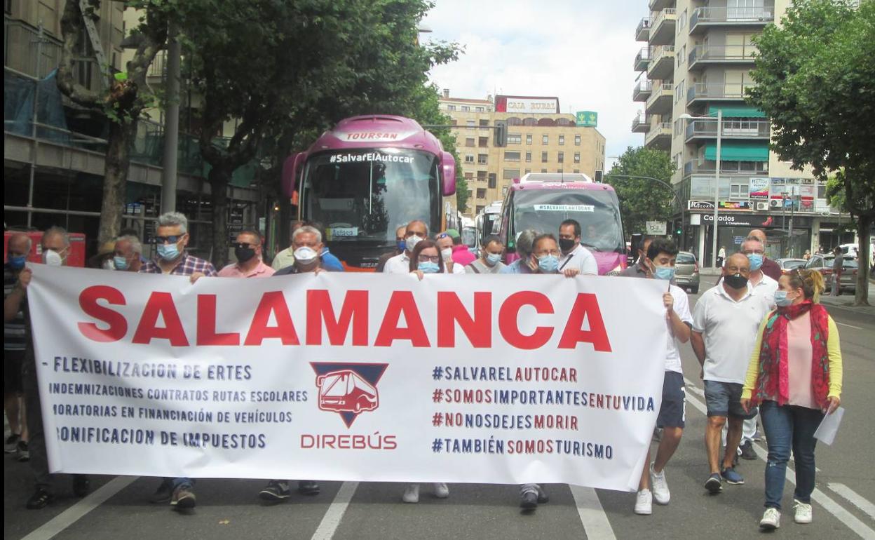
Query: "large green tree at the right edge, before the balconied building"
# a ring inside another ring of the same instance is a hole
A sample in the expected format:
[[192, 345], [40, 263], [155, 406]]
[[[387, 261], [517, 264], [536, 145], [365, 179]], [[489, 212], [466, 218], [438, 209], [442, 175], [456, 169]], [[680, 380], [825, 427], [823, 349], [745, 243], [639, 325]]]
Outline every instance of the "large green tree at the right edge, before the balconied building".
[[[755, 39], [748, 102], [772, 120], [772, 147], [796, 169], [839, 172], [844, 209], [857, 223], [860, 265], [871, 260], [875, 221], [875, 2], [796, 0], [781, 25]], [[868, 305], [867, 272], [857, 305]]]

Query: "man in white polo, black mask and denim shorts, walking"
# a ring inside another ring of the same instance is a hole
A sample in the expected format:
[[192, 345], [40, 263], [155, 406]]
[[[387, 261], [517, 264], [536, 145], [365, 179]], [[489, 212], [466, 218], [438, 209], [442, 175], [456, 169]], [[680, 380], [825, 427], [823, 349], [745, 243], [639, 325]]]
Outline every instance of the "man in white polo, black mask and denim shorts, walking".
[[[708, 424], [705, 448], [711, 475], [705, 488], [719, 493], [722, 481], [734, 485], [745, 483], [732, 462], [741, 441], [742, 422], [756, 417], [757, 410], [741, 408], [741, 387], [751, 357], [760, 322], [769, 310], [767, 300], [753, 294], [748, 283], [751, 263], [741, 253], [729, 256], [723, 266], [723, 279], [705, 291], [693, 310], [690, 342], [703, 368]], [[720, 432], [729, 419], [726, 450], [719, 463]]]

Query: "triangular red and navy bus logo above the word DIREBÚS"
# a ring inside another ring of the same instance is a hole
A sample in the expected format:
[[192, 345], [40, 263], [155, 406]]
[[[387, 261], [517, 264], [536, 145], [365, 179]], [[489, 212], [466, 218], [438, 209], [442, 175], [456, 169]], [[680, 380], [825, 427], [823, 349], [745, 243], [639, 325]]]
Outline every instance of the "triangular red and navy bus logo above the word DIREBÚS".
[[337, 412], [346, 427], [362, 412], [380, 406], [377, 382], [388, 364], [311, 362], [316, 372], [318, 408]]

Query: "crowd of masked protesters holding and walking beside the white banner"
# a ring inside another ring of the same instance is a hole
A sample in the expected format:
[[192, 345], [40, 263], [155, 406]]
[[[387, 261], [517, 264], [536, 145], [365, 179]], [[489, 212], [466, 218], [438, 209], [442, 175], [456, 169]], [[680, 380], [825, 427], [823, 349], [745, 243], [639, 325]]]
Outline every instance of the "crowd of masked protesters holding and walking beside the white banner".
[[[115, 242], [101, 246], [88, 265], [107, 270], [201, 277], [276, 277], [288, 274], [344, 271], [344, 264], [325, 244], [325, 228], [318, 223], [291, 224], [290, 247], [264, 260], [262, 236], [242, 230], [233, 243], [235, 263], [216, 270], [212, 263], [191, 255], [186, 247], [190, 235], [186, 216], [162, 214], [156, 228], [156, 256], [144, 258], [136, 231], [123, 231]], [[498, 236], [487, 236], [479, 256], [467, 249], [458, 231], [429, 231], [425, 221], [414, 220], [395, 229], [395, 249], [382, 254], [377, 271], [412, 274], [422, 280], [428, 274], [561, 274], [568, 278], [598, 275], [598, 265], [581, 244], [581, 226], [563, 221], [557, 231], [524, 230], [514, 243], [514, 257], [507, 257]], [[704, 432], [705, 457], [710, 471], [704, 488], [720, 493], [724, 484], [742, 485], [737, 470], [739, 452], [747, 459], [756, 438], [757, 417], [767, 435], [765, 473], [766, 511], [763, 529], [780, 526], [781, 498], [786, 467], [792, 449], [796, 465], [795, 522], [812, 520], [810, 496], [815, 487], [814, 431], [841, 403], [842, 357], [836, 323], [818, 298], [823, 277], [814, 270], [793, 270], [770, 277], [777, 266], [764, 253], [765, 234], [752, 231], [739, 253], [721, 249], [721, 277], [704, 291], [690, 309], [686, 293], [674, 284], [678, 249], [662, 238], [645, 238], [638, 260], [621, 277], [662, 280], [669, 341], [665, 352], [662, 406], [655, 426], [659, 440], [655, 459], [650, 449], [641, 473], [634, 513], [649, 515], [653, 501], [669, 504], [666, 475], [669, 460], [680, 445], [685, 427], [685, 383], [681, 347], [690, 342], [701, 365], [708, 421]], [[49, 228], [42, 235], [42, 261], [64, 265], [70, 241], [62, 228]], [[5, 451], [29, 461], [35, 491], [27, 508], [44, 508], [57, 493], [49, 473], [39, 394], [33, 359], [27, 286], [31, 270], [26, 259], [31, 239], [13, 234], [4, 265], [4, 406], [11, 436]], [[508, 262], [509, 259], [513, 259]], [[36, 411], [34, 413], [34, 411]], [[721, 451], [723, 453], [721, 457]], [[749, 452], [748, 452], [749, 451]], [[755, 456], [754, 456], [755, 458]], [[87, 476], [73, 475], [73, 494], [84, 496], [90, 487]], [[290, 496], [290, 480], [270, 480], [259, 496], [281, 501]], [[165, 478], [151, 496], [152, 502], [169, 502], [174, 508], [193, 508], [194, 480]], [[314, 480], [299, 480], [297, 489], [318, 494]], [[445, 483], [433, 484], [438, 498], [448, 497]], [[409, 484], [402, 501], [419, 500], [419, 485]], [[534, 510], [549, 496], [537, 484], [521, 487], [521, 507]]]

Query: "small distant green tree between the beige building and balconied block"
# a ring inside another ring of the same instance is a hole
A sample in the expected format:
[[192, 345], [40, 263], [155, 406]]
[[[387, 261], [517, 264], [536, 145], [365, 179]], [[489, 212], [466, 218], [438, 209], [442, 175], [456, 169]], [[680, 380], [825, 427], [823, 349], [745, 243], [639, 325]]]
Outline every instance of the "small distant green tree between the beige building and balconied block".
[[644, 232], [645, 221], [669, 221], [674, 214], [674, 194], [669, 186], [654, 180], [624, 177], [648, 177], [669, 184], [674, 171], [669, 152], [644, 146], [629, 146], [613, 164], [605, 182], [617, 192], [627, 234]]

